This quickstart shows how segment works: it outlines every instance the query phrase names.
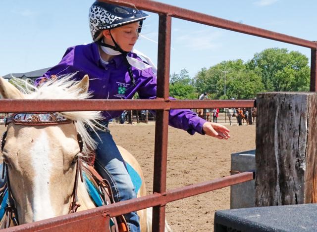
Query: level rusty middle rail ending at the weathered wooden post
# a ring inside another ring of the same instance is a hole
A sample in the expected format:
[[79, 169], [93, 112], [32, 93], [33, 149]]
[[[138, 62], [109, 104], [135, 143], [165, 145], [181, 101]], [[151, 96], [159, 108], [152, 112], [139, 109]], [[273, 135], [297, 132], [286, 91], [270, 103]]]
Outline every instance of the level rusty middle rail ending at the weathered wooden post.
[[170, 110], [253, 107], [255, 100], [30, 100], [0, 99], [0, 112], [61, 112], [93, 110]]

